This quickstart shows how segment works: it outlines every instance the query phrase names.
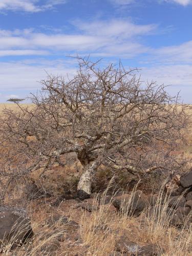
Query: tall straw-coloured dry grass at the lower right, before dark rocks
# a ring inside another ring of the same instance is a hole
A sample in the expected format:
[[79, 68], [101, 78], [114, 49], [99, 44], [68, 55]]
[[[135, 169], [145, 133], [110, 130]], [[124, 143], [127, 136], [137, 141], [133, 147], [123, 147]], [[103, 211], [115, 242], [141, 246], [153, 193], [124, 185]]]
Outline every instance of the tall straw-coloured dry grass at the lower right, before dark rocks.
[[[132, 197], [134, 196], [135, 193], [132, 193]], [[127, 214], [132, 208], [131, 200], [124, 203], [123, 211], [119, 214], [112, 215], [110, 207], [103, 207], [104, 205], [99, 211], [93, 211], [91, 216], [83, 214], [81, 236], [83, 242], [89, 245], [90, 255], [109, 255], [109, 252], [115, 250], [116, 242], [122, 234], [126, 234], [127, 240], [137, 243], [138, 247], [147, 243], [156, 244], [163, 256], [191, 255], [192, 226], [188, 226], [187, 221], [180, 229], [170, 225], [173, 216], [166, 214], [168, 196], [157, 215], [162, 196], [163, 189], [158, 195], [154, 215], [151, 217], [148, 216], [148, 210], [138, 218]]]

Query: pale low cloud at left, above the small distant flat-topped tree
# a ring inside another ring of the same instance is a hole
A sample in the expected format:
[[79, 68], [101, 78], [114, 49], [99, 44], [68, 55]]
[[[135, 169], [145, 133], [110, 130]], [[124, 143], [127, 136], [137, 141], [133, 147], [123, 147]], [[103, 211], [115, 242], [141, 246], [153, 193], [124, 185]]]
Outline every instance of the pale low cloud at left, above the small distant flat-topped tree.
[[19, 95], [23, 93], [20, 97], [26, 97], [26, 94], [29, 94], [30, 91], [41, 88], [39, 81], [46, 78], [47, 73], [73, 76], [75, 71], [73, 62], [59, 60], [42, 61], [38, 59], [34, 61], [1, 62], [0, 93], [2, 93], [2, 97], [3, 91], [6, 91], [7, 94], [8, 92], [10, 92], [9, 94]]

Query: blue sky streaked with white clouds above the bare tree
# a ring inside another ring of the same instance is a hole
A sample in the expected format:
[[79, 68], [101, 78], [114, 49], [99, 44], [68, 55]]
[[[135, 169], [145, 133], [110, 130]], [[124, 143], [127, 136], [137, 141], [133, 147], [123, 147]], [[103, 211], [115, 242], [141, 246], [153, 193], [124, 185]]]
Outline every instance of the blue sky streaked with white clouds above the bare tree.
[[73, 76], [76, 54], [121, 58], [192, 103], [192, 0], [0, 0], [0, 102]]

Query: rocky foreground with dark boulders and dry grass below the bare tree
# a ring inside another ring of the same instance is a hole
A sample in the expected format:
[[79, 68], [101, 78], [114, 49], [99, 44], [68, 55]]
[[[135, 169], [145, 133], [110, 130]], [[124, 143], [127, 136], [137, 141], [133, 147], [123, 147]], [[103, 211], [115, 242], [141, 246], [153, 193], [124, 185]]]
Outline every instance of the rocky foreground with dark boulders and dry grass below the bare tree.
[[0, 205], [2, 255], [192, 255], [192, 171], [158, 194], [109, 185], [80, 201], [43, 196], [35, 183], [27, 191], [26, 207]]

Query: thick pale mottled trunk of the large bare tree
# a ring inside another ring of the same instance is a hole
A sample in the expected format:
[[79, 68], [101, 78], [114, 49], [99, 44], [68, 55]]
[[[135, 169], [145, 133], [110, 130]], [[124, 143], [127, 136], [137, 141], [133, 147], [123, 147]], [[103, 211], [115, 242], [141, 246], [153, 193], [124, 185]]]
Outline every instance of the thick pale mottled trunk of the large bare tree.
[[91, 185], [97, 172], [97, 168], [98, 163], [96, 161], [84, 166], [86, 172], [82, 174], [77, 186], [77, 195], [79, 199], [84, 200], [90, 198]]

